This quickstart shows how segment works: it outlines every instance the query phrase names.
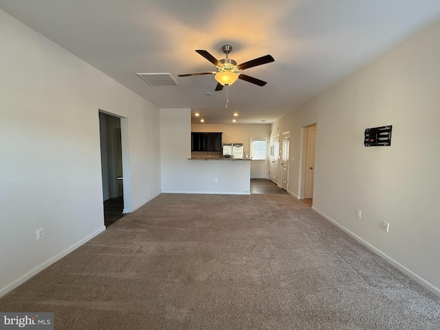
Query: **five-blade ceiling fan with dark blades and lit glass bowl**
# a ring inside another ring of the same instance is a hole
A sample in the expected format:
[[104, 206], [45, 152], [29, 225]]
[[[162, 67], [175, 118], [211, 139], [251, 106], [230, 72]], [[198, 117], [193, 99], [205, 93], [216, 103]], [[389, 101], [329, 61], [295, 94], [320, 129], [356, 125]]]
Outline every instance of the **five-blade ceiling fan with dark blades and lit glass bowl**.
[[246, 76], [242, 74], [241, 71], [245, 69], [249, 69], [250, 67], [256, 67], [258, 65], [263, 65], [266, 63], [274, 62], [274, 58], [270, 55], [261, 56], [259, 58], [254, 58], [251, 61], [241, 63], [239, 65], [236, 64], [236, 61], [232, 60], [232, 58], [228, 58], [228, 54], [232, 51], [231, 45], [223, 45], [221, 47], [223, 53], [226, 54], [226, 58], [217, 60], [214, 56], [212, 56], [206, 50], [196, 50], [201, 56], [206, 58], [210, 63], [217, 67], [217, 72], [201, 72], [198, 74], [178, 74], [179, 77], [188, 77], [188, 76], [201, 76], [203, 74], [214, 74], [215, 80], [217, 80], [217, 87], [215, 87], [216, 91], [221, 91], [223, 86], [232, 85], [237, 79], [245, 80], [248, 83], [252, 83], [259, 86], [264, 86], [267, 83], [263, 80], [253, 78], [250, 76]]

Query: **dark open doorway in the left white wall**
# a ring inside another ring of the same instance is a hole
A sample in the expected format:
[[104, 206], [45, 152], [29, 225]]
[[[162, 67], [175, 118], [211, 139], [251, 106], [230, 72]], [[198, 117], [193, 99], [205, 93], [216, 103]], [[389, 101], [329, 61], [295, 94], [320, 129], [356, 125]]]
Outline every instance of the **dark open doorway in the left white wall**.
[[99, 112], [104, 225], [124, 216], [121, 119]]

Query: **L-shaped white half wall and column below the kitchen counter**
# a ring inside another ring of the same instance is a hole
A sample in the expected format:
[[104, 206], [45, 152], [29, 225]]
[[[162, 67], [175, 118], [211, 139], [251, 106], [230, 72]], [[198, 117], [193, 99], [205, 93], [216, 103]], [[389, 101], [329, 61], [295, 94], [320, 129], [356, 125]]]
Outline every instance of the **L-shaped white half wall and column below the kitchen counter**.
[[162, 191], [249, 194], [250, 161], [189, 159], [190, 119], [190, 109], [160, 109]]

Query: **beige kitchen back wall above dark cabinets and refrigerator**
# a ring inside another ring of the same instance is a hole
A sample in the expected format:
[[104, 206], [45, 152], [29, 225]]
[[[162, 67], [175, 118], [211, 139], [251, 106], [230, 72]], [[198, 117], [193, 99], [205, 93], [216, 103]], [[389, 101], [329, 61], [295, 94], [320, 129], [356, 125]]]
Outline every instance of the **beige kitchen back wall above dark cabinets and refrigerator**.
[[191, 124], [192, 132], [222, 132], [222, 143], [243, 143], [245, 155], [250, 156], [251, 137], [270, 135], [270, 124]]

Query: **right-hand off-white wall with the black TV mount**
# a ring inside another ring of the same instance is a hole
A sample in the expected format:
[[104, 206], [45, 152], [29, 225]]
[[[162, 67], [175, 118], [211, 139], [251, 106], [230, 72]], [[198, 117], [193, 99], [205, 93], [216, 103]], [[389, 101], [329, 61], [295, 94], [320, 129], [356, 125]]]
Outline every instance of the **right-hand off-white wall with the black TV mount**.
[[[291, 130], [299, 193], [301, 127], [317, 123], [314, 208], [437, 294], [439, 58], [440, 21], [272, 125]], [[388, 124], [391, 146], [364, 146], [366, 128]]]

